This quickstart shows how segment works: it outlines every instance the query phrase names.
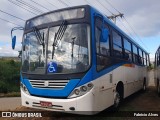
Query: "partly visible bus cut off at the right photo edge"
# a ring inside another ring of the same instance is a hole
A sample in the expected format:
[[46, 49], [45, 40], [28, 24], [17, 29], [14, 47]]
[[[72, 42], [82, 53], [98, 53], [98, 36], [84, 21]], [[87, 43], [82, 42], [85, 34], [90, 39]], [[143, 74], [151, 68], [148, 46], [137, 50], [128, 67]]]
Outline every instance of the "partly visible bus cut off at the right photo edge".
[[155, 71], [154, 71], [154, 82], [157, 88], [158, 96], [160, 96], [160, 46], [155, 53]]

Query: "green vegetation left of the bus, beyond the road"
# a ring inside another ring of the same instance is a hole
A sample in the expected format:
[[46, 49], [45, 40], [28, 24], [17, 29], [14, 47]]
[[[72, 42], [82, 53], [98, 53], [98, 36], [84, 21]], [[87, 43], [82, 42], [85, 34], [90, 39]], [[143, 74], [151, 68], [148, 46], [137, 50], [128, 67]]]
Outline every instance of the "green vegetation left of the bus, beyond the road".
[[20, 91], [20, 62], [0, 59], [0, 93]]

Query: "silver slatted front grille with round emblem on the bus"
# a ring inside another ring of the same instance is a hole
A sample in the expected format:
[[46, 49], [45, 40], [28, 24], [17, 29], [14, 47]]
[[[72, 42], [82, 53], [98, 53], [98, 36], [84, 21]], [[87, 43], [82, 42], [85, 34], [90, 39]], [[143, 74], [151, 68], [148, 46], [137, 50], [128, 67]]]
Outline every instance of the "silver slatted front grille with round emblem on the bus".
[[63, 89], [69, 80], [29, 80], [34, 88]]

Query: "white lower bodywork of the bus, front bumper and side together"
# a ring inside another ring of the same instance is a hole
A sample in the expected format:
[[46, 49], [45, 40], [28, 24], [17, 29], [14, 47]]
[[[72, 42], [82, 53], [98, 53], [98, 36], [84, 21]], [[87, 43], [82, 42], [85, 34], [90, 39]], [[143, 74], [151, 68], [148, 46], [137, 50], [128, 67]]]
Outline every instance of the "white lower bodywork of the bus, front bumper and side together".
[[[116, 91], [116, 86], [119, 81], [124, 85], [125, 98], [142, 88], [144, 77], [147, 77], [147, 70], [145, 67], [136, 65], [134, 67], [120, 66], [112, 72], [92, 81], [94, 85], [93, 89], [85, 95], [76, 98], [52, 99], [36, 97], [30, 96], [21, 90], [22, 105], [26, 107], [64, 112], [69, 112], [71, 111], [69, 108], [74, 107], [75, 111], [93, 111], [93, 114], [95, 114], [96, 112], [102, 111], [114, 104], [114, 92]], [[26, 104], [26, 101], [29, 102], [28, 105]], [[55, 107], [42, 108], [40, 101], [52, 102], [52, 105], [55, 105]], [[36, 104], [37, 106], [34, 106], [34, 103], [38, 103]], [[71, 112], [74, 113], [75, 111]], [[76, 114], [81, 114], [81, 112], [77, 112]], [[82, 114], [92, 113], [82, 112]]]

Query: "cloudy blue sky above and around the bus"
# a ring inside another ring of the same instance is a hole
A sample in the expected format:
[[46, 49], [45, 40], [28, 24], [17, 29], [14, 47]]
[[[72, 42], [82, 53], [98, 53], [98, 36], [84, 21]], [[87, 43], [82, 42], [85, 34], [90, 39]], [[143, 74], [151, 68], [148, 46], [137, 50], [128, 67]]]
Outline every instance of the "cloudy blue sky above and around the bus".
[[[28, 8], [17, 1], [32, 5], [32, 9], [25, 10]], [[160, 45], [160, 0], [0, 0], [0, 56], [18, 56], [23, 31], [14, 31], [13, 34], [17, 36], [17, 44], [15, 50], [12, 50], [11, 29], [17, 26], [15, 24], [20, 26], [25, 24], [25, 21], [1, 11], [27, 20], [48, 11], [85, 4], [94, 6], [107, 16], [123, 13], [124, 18], [118, 18], [116, 25], [149, 52], [151, 60], [154, 60], [154, 54]]]

